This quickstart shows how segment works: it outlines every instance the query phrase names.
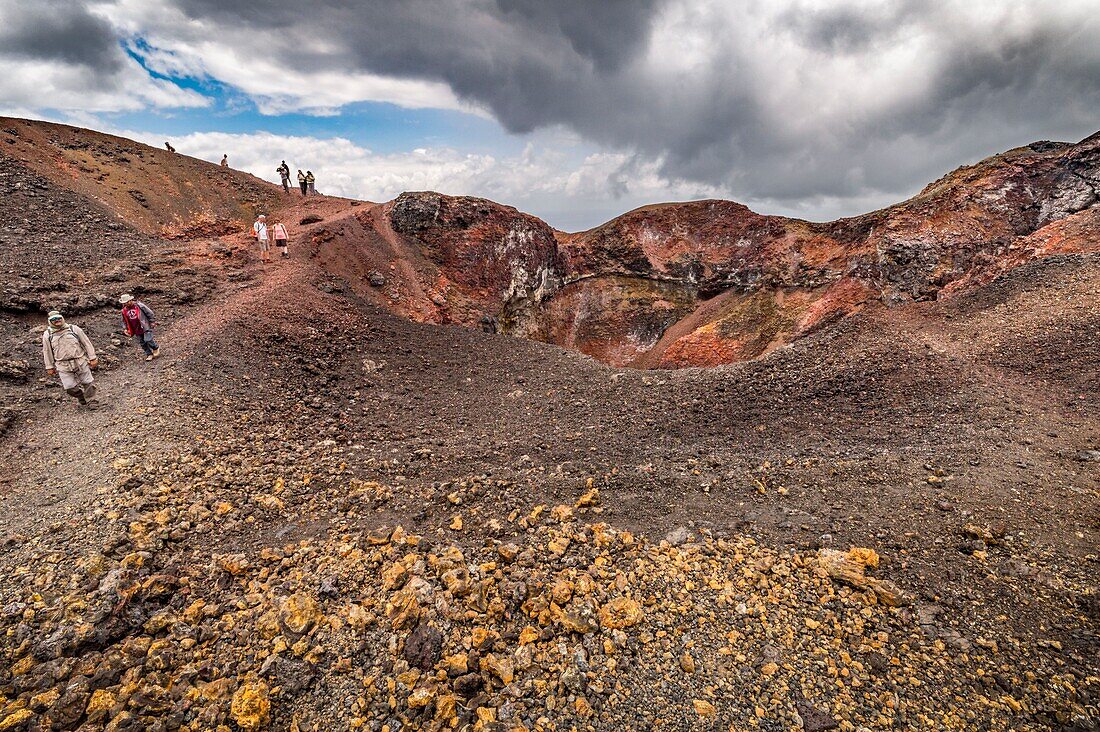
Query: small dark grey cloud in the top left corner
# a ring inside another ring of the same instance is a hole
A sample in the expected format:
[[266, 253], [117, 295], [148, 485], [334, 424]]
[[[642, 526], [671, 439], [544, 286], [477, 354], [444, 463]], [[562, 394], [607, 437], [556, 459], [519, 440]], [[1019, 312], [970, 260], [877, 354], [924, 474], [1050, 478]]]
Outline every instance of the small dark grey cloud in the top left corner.
[[0, 3], [0, 52], [77, 64], [105, 75], [118, 72], [123, 62], [110, 24], [67, 0]]

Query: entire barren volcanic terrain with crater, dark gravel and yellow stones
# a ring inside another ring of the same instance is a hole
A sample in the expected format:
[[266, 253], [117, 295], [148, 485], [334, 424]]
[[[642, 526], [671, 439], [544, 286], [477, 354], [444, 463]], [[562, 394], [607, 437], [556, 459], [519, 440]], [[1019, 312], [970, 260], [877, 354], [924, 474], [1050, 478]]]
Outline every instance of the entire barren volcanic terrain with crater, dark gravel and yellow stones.
[[1094, 138], [564, 234], [0, 130], [0, 729], [1094, 728]]

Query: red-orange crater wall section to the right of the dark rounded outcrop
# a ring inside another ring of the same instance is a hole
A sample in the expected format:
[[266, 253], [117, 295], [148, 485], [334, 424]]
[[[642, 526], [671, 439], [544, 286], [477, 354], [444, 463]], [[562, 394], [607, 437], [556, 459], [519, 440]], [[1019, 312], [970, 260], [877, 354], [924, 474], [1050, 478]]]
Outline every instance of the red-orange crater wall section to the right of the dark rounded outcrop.
[[560, 234], [540, 334], [615, 364], [756, 358], [868, 305], [952, 296], [1053, 253], [1100, 251], [1100, 134], [961, 167], [914, 198], [831, 223], [730, 201], [647, 206]]

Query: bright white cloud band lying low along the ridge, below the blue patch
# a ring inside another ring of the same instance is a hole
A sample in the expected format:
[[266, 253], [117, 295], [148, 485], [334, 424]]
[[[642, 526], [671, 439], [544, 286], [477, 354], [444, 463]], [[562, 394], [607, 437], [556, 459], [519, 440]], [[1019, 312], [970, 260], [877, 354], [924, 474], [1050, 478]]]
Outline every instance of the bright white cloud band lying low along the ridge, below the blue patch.
[[[165, 135], [114, 131], [160, 146]], [[385, 201], [406, 190], [438, 190], [454, 196], [481, 196], [516, 206], [552, 226], [595, 226], [654, 200], [723, 197], [728, 192], [694, 184], [675, 184], [659, 173], [659, 162], [639, 164], [619, 153], [595, 153], [576, 160], [559, 149], [529, 144], [518, 155], [463, 153], [451, 148], [417, 148], [376, 153], [343, 138], [196, 132], [172, 138], [183, 154], [230, 165], [278, 183], [275, 167], [286, 160], [292, 173], [311, 170], [321, 193]], [[625, 182], [619, 178], [626, 178]], [[292, 184], [295, 176], [292, 175]], [[614, 193], [617, 190], [617, 195]]]

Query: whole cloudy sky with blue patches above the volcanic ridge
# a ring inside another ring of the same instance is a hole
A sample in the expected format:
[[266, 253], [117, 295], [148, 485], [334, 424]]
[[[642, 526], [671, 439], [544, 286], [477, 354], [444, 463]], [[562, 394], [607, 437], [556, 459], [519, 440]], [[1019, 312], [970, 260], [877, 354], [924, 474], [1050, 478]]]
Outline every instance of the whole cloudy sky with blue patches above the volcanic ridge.
[[0, 114], [564, 230], [832, 220], [1100, 130], [1097, 0], [0, 0]]

